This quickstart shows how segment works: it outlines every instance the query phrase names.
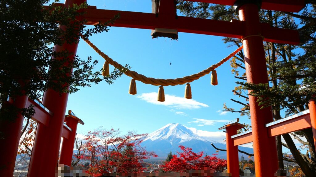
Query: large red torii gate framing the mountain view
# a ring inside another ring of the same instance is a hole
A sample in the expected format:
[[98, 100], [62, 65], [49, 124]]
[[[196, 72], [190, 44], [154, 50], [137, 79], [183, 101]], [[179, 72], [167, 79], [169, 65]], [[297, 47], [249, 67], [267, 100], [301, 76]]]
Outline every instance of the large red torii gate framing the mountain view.
[[[120, 14], [120, 18], [112, 26], [142, 28], [155, 30], [156, 28], [173, 29], [178, 32], [189, 32], [196, 34], [216, 35], [225, 37], [236, 37], [243, 39], [247, 82], [268, 83], [268, 75], [265, 65], [265, 54], [263, 39], [267, 42], [286, 43], [297, 45], [300, 43], [298, 31], [271, 27], [269, 24], [260, 23], [258, 9], [299, 12], [305, 7], [304, 0], [190, 0], [193, 2], [216, 3], [223, 5], [234, 5], [239, 13], [240, 20], [217, 21], [209, 19], [199, 19], [191, 17], [177, 16], [175, 0], [155, 0], [157, 3], [155, 13], [127, 12], [116, 10], [96, 9], [89, 6], [84, 9], [86, 12], [82, 17], [88, 21], [87, 25], [97, 24], [99, 21], [106, 22], [115, 14]], [[59, 6], [71, 6], [81, 4], [86, 0], [65, 0], [65, 4]], [[159, 3], [158, 3], [159, 2]], [[55, 46], [54, 51], [68, 50], [73, 53], [70, 60], [75, 56], [77, 43]], [[45, 92], [43, 104], [54, 114], [49, 120], [48, 127], [39, 124], [36, 130], [36, 137], [33, 145], [33, 152], [28, 175], [54, 176], [54, 170], [58, 161], [58, 152], [62, 129], [64, 124], [64, 113], [68, 94], [61, 96], [52, 89]], [[274, 176], [278, 169], [275, 138], [269, 137], [266, 123], [272, 122], [272, 112], [270, 108], [260, 109], [256, 103], [257, 98], [249, 96], [252, 137], [254, 144], [254, 160], [256, 175], [258, 177]], [[14, 101], [14, 105], [20, 108], [25, 107], [27, 97], [20, 97]], [[21, 115], [19, 116], [20, 119]], [[11, 125], [8, 130], [13, 135], [18, 135], [21, 131], [21, 124]], [[18, 136], [12, 136], [12, 142], [7, 142], [4, 151], [14, 149], [16, 155], [16, 141]], [[267, 144], [269, 146], [267, 146]], [[5, 159], [15, 159], [10, 153], [5, 155]], [[264, 166], [264, 168], [263, 168]], [[1, 169], [0, 169], [1, 170]], [[2, 172], [2, 170], [0, 171]], [[10, 172], [5, 171], [9, 174]]]

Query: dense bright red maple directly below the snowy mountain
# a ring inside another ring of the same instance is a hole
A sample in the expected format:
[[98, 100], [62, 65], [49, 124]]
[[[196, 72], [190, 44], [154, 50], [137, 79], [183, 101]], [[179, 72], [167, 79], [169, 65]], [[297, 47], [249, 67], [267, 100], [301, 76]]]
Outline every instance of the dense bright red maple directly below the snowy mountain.
[[[173, 155], [169, 162], [161, 165], [163, 171], [166, 172], [185, 172], [187, 170], [199, 170], [203, 167], [210, 167], [214, 172], [222, 171], [227, 166], [227, 161], [214, 156], [204, 156], [204, 152], [195, 153], [192, 148], [180, 145], [179, 148], [183, 152], [178, 152], [178, 155]], [[203, 157], [204, 156], [204, 157]]]

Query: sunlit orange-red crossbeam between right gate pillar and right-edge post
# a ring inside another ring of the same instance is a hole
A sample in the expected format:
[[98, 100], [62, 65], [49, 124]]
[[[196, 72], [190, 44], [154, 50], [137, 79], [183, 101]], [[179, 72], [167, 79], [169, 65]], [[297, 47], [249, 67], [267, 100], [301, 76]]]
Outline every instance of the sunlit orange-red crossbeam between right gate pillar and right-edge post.
[[272, 125], [268, 127], [268, 134], [269, 136], [277, 136], [306, 128], [311, 128], [311, 119], [309, 114]]

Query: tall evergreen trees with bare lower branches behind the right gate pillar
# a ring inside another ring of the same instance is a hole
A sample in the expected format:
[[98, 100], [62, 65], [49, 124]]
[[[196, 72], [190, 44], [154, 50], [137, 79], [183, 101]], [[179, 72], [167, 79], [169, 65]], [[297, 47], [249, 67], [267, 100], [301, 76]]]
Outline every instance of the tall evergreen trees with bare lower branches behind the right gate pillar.
[[[240, 116], [249, 117], [249, 103], [247, 103], [248, 95], [246, 91], [248, 89], [252, 90], [252, 95], [260, 98], [259, 105], [262, 107], [272, 106], [275, 120], [281, 118], [280, 110], [282, 109], [286, 111], [286, 116], [306, 109], [306, 103], [311, 98], [314, 98], [315, 96], [313, 95], [316, 93], [316, 1], [310, 0], [307, 3], [310, 5], [304, 8], [300, 14], [260, 10], [261, 22], [280, 28], [297, 29], [301, 33], [303, 43], [300, 46], [264, 43], [270, 79], [269, 85], [245, 83], [246, 73], [243, 66], [245, 63], [243, 53], [240, 52], [235, 55], [231, 60], [232, 73], [235, 75], [235, 78], [241, 79], [242, 82], [237, 82], [238, 85], [232, 91], [236, 96], [244, 99], [245, 102], [231, 99], [242, 107], [240, 110], [235, 110], [235, 108], [229, 108], [224, 104], [223, 111], [238, 112]], [[231, 6], [180, 1], [178, 2], [178, 8], [183, 14], [192, 17], [225, 21], [239, 19], [238, 14], [234, 12]], [[240, 47], [241, 45], [241, 40], [236, 38], [225, 37], [223, 41], [224, 43], [229, 43], [229, 46], [236, 45]], [[298, 48], [301, 48], [301, 50], [298, 50]], [[299, 87], [302, 84], [308, 85], [308, 89], [300, 90]], [[290, 135], [284, 134], [282, 136], [286, 144], [281, 142], [280, 136], [277, 137], [278, 158], [296, 162], [307, 176], [316, 176], [314, 170], [316, 168], [316, 152], [313, 145], [312, 130], [306, 129], [293, 132], [291, 135], [299, 140], [304, 148], [307, 148], [307, 154], [302, 154], [295, 146]], [[302, 137], [306, 138], [307, 141], [302, 140]], [[290, 149], [295, 160], [283, 157], [282, 145]], [[282, 160], [279, 160], [279, 166], [283, 167]]]

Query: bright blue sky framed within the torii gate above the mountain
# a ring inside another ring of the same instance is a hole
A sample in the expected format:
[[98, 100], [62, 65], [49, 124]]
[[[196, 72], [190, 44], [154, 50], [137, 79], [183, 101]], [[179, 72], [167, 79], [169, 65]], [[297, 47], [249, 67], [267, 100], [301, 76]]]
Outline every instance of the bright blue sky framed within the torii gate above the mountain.
[[[151, 13], [149, 0], [88, 0], [88, 4], [98, 9]], [[133, 71], [164, 79], [195, 74], [237, 49], [237, 46], [228, 48], [222, 42], [223, 37], [179, 33], [176, 41], [163, 37], [152, 39], [150, 33], [150, 30], [111, 27], [109, 32], [90, 37], [90, 41], [123, 66], [129, 64]], [[79, 43], [77, 55], [99, 60], [97, 70], [103, 66], [104, 59], [84, 41]], [[220, 141], [225, 134], [218, 128], [240, 117], [238, 113], [222, 112], [223, 103], [239, 110], [241, 105], [230, 98], [244, 99], [231, 92], [237, 79], [231, 73], [229, 61], [216, 71], [217, 86], [210, 85], [210, 74], [191, 83], [192, 100], [184, 98], [185, 84], [164, 87], [166, 102], [162, 103], [156, 101], [158, 86], [139, 81], [136, 81], [137, 95], [130, 95], [131, 77], [123, 75], [112, 85], [102, 82], [70, 94], [67, 110], [72, 110], [85, 123], [78, 127], [80, 134], [99, 126], [119, 128], [122, 133], [131, 130], [150, 133], [167, 123], [181, 123], [200, 135]], [[247, 117], [240, 118], [241, 123], [250, 123]]]

